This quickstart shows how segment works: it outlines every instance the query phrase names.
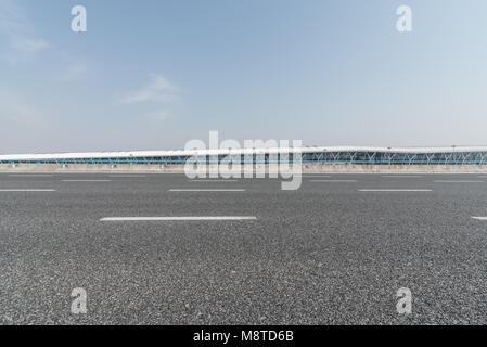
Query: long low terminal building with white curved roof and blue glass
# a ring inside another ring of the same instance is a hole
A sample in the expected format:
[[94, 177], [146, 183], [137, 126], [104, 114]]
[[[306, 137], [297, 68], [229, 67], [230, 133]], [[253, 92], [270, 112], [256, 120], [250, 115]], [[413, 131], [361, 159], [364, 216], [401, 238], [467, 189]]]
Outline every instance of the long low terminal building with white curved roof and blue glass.
[[320, 165], [487, 165], [487, 146], [366, 147], [306, 146], [191, 151], [136, 151], [0, 155], [0, 164], [130, 164], [182, 165], [198, 163], [279, 164], [300, 162]]

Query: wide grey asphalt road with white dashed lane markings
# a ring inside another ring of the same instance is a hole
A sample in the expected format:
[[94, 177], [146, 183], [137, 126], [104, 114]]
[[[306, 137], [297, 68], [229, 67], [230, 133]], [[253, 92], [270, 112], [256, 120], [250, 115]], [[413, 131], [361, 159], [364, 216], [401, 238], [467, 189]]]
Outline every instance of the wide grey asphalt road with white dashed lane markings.
[[[215, 216], [255, 219], [101, 221]], [[275, 179], [0, 174], [0, 323], [486, 324], [487, 220], [475, 216], [487, 217], [478, 175], [331, 175], [282, 191]], [[86, 314], [71, 311], [75, 287]], [[400, 287], [410, 314], [396, 310]]]

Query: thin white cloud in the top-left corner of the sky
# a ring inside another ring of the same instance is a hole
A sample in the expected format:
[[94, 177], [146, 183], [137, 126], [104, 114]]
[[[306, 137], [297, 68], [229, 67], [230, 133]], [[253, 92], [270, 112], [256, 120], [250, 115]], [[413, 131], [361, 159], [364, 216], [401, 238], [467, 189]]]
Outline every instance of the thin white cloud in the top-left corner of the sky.
[[5, 43], [0, 43], [0, 49], [4, 52], [4, 59], [12, 64], [21, 63], [49, 47], [33, 31], [30, 24], [13, 1], [0, 0], [0, 36], [5, 38]]

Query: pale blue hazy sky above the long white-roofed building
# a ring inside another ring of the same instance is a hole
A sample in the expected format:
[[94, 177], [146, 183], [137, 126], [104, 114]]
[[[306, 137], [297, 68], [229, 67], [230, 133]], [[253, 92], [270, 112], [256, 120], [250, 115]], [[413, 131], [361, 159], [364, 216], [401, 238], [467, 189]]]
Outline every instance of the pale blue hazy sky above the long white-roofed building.
[[[71, 30], [85, 5], [88, 31]], [[396, 30], [396, 9], [413, 30]], [[486, 145], [485, 0], [0, 0], [0, 153]]]

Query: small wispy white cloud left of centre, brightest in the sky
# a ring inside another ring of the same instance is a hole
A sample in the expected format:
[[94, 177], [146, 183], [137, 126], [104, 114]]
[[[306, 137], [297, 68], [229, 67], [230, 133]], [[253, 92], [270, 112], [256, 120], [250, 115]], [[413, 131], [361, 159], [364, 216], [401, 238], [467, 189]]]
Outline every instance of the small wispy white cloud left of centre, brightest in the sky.
[[167, 104], [177, 99], [178, 88], [171, 85], [164, 76], [153, 75], [152, 82], [121, 99], [123, 103], [133, 104], [142, 102], [154, 102]]

